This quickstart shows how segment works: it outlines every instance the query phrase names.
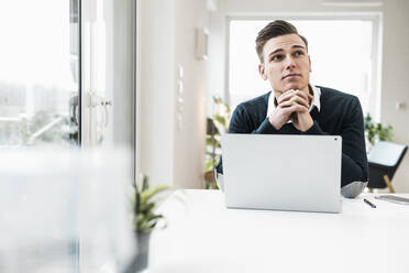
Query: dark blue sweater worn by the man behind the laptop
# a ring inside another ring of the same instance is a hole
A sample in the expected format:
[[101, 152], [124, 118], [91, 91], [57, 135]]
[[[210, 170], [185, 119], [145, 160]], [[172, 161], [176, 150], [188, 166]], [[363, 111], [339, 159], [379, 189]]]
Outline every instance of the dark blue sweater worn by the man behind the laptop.
[[[267, 108], [270, 92], [239, 105], [230, 121], [229, 133], [263, 134], [330, 134], [342, 136], [341, 186], [351, 182], [366, 182], [368, 163], [365, 149], [364, 120], [360, 100], [331, 88], [321, 89], [320, 111], [314, 107], [310, 114], [313, 125], [306, 132], [286, 123], [276, 130], [268, 121]], [[272, 95], [274, 96], [274, 95]], [[222, 161], [217, 167], [223, 173]]]

